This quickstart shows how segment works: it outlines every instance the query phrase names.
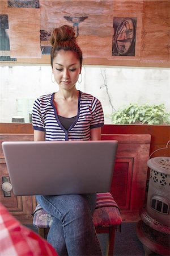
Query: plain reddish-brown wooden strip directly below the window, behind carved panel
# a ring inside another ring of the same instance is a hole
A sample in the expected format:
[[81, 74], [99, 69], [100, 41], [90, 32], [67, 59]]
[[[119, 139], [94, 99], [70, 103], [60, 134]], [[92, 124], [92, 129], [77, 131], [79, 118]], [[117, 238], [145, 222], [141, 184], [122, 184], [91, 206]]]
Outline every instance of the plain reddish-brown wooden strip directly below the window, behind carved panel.
[[[0, 123], [0, 133], [33, 133], [31, 123]], [[150, 154], [165, 147], [170, 140], [170, 125], [104, 125], [102, 134], [150, 134]], [[155, 156], [169, 156], [168, 149], [155, 152]]]

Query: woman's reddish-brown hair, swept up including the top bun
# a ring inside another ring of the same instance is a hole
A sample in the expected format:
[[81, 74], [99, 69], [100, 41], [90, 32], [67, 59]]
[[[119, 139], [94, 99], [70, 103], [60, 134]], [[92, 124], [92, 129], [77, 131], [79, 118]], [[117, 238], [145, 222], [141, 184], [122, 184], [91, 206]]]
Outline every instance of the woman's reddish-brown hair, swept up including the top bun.
[[52, 49], [50, 52], [52, 67], [53, 60], [61, 49], [63, 49], [64, 51], [75, 52], [78, 60], [80, 61], [80, 65], [82, 65], [82, 51], [76, 43], [73, 27], [65, 25], [55, 28], [50, 37], [50, 43], [52, 44]]

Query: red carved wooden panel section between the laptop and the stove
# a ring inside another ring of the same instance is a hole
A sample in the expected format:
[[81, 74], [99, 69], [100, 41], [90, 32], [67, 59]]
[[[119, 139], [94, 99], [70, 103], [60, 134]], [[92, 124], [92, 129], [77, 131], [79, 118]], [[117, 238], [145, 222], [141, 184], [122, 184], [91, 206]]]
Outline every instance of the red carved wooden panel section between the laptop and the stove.
[[118, 141], [111, 193], [120, 206], [122, 219], [138, 221], [139, 210], [145, 205], [151, 135], [103, 134], [101, 139]]

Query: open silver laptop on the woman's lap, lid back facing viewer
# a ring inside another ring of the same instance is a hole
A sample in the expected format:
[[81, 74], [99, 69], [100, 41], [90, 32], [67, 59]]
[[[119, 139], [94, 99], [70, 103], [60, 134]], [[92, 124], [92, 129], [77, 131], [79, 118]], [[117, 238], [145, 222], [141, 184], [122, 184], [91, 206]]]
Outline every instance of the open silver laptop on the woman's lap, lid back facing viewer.
[[108, 192], [117, 141], [3, 142], [14, 195]]

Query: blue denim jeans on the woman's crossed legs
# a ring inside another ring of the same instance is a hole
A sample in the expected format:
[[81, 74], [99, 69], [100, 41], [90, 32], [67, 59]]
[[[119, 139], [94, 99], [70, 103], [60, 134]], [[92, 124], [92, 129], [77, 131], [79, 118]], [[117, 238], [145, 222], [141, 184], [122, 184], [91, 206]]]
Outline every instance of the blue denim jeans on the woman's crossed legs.
[[54, 219], [47, 241], [59, 256], [101, 256], [100, 243], [92, 221], [96, 194], [36, 196]]

